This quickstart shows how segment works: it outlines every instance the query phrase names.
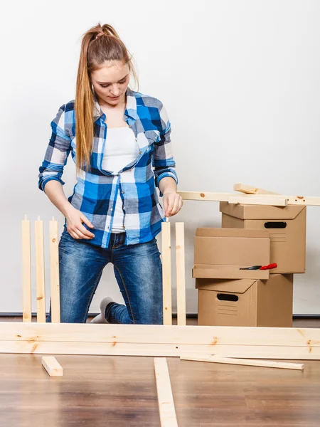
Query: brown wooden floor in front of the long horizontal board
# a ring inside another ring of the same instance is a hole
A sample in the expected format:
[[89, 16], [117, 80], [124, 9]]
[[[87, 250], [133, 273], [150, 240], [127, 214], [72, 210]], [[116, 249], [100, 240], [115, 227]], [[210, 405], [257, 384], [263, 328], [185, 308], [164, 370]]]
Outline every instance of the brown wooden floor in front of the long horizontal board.
[[[160, 426], [152, 357], [56, 359], [64, 375], [53, 378], [40, 355], [0, 354], [1, 427]], [[320, 362], [301, 372], [167, 360], [179, 427], [320, 426]]]

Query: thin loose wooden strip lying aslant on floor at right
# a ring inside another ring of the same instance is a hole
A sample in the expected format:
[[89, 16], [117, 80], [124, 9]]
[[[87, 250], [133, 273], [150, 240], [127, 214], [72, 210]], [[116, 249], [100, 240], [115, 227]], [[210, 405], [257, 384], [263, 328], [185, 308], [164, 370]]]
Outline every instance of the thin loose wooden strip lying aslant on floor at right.
[[266, 368], [282, 368], [282, 369], [297, 369], [304, 370], [304, 365], [299, 363], [275, 362], [274, 360], [255, 360], [255, 359], [233, 359], [231, 357], [199, 357], [199, 356], [181, 356], [181, 360], [192, 360], [195, 362], [211, 362], [222, 364], [238, 364], [247, 365], [250, 367], [266, 367]]

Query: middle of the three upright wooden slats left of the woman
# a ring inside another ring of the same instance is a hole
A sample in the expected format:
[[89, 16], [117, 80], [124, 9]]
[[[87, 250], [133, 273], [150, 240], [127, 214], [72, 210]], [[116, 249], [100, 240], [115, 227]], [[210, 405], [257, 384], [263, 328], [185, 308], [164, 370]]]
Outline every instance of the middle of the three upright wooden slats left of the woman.
[[37, 322], [46, 322], [43, 221], [35, 221]]

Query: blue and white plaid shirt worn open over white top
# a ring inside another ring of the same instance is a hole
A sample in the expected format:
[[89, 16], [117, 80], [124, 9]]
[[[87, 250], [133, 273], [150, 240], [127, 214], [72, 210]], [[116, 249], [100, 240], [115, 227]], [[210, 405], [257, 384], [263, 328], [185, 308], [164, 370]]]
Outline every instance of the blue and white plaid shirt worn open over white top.
[[[124, 120], [134, 132], [139, 156], [117, 174], [102, 169], [107, 125], [106, 116], [97, 102], [93, 117], [95, 136], [91, 169], [90, 172], [81, 170], [73, 194], [68, 198], [70, 204], [85, 214], [95, 226], [90, 230], [95, 237], [87, 242], [107, 248], [118, 194], [123, 201], [125, 244], [151, 241], [161, 231], [161, 222], [165, 219], [156, 186], [159, 187], [165, 176], [171, 176], [178, 182], [170, 141], [171, 125], [166, 110], [156, 98], [127, 89]], [[74, 101], [60, 107], [51, 127], [52, 136], [39, 168], [41, 190], [53, 179], [64, 184], [61, 176], [70, 152], [75, 162]], [[87, 226], [85, 228], [89, 229]]]

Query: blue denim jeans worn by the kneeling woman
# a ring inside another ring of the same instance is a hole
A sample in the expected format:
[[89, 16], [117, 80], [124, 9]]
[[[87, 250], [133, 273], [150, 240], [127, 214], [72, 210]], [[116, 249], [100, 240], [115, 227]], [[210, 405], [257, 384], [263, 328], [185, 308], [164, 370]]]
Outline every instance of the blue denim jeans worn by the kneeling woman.
[[86, 322], [102, 270], [112, 263], [125, 305], [110, 305], [107, 321], [162, 324], [162, 268], [156, 239], [125, 246], [124, 238], [124, 233], [112, 234], [109, 247], [101, 248], [63, 231], [59, 242], [61, 322]]

